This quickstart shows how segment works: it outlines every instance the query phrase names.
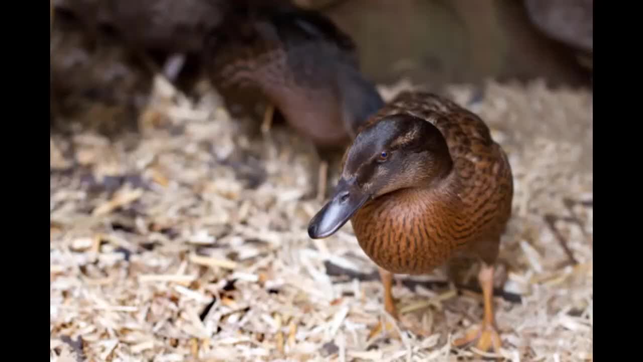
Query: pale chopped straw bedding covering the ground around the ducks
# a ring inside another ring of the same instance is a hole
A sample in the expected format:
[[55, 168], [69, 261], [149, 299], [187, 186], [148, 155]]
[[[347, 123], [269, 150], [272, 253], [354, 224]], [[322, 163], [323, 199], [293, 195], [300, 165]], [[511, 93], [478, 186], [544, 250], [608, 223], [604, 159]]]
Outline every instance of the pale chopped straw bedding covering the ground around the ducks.
[[[449, 343], [481, 318], [482, 296], [442, 270], [396, 277], [402, 318], [426, 334], [369, 335], [383, 288], [350, 224], [307, 236], [321, 203], [305, 140], [283, 125], [263, 136], [199, 89], [158, 77], [140, 133], [52, 133], [51, 361], [480, 359]], [[489, 123], [514, 171], [502, 357], [592, 360], [591, 93], [490, 82], [449, 95]]]

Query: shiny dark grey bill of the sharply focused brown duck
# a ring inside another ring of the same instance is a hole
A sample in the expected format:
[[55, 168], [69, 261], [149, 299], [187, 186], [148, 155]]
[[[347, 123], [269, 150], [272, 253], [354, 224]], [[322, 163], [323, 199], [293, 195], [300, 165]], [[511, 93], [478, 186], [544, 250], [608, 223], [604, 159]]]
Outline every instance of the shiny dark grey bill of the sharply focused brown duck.
[[358, 187], [354, 178], [350, 181], [341, 178], [331, 200], [311, 219], [308, 225], [308, 236], [312, 239], [331, 236], [368, 200], [370, 195]]

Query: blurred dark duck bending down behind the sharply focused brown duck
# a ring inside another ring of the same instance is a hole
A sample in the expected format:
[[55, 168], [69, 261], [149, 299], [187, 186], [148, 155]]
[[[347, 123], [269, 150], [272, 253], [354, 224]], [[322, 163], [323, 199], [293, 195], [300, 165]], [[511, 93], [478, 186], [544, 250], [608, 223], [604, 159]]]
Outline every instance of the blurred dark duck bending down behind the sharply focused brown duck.
[[261, 131], [276, 115], [318, 157], [317, 198], [326, 193], [329, 157], [384, 105], [359, 69], [352, 38], [316, 10], [287, 1], [240, 1], [206, 38], [205, 72], [229, 110], [267, 103]]

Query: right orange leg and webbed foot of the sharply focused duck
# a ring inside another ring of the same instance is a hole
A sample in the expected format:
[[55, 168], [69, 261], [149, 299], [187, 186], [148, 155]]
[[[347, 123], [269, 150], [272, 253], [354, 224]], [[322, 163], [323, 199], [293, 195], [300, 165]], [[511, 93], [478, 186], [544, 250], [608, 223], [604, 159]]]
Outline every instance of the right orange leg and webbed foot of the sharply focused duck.
[[493, 312], [493, 272], [493, 265], [483, 264], [478, 273], [478, 281], [480, 282], [484, 296], [484, 318], [482, 319], [482, 325], [469, 330], [463, 338], [458, 338], [453, 341], [455, 347], [464, 347], [473, 342], [477, 342], [476, 348], [479, 350], [487, 352], [490, 347], [493, 347], [494, 352], [500, 352], [500, 336], [496, 331]]

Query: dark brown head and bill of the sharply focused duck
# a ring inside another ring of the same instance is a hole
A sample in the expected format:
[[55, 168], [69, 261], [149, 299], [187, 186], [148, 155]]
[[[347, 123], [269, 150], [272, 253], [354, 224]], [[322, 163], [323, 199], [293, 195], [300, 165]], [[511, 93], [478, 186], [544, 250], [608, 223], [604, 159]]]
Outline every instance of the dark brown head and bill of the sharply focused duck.
[[327, 238], [370, 200], [408, 187], [431, 187], [452, 167], [446, 139], [431, 122], [407, 114], [382, 117], [347, 149], [340, 181], [311, 219], [308, 234]]

